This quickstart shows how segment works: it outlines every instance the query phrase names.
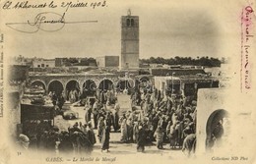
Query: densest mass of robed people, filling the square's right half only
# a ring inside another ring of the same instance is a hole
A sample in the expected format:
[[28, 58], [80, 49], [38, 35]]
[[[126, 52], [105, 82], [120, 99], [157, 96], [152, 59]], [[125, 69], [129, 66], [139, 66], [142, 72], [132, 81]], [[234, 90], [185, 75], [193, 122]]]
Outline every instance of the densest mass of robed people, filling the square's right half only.
[[181, 148], [185, 137], [195, 134], [196, 100], [181, 92], [164, 93], [157, 89], [140, 89], [131, 95], [132, 110], [122, 117], [121, 139], [135, 141], [138, 151], [157, 141], [171, 148]]

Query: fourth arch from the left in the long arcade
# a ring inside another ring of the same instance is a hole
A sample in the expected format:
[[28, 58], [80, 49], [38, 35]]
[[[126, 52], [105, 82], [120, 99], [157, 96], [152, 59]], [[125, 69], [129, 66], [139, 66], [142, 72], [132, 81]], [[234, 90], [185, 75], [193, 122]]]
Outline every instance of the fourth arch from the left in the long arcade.
[[83, 92], [81, 98], [94, 95], [96, 95], [96, 82], [93, 80], [87, 80], [83, 83]]

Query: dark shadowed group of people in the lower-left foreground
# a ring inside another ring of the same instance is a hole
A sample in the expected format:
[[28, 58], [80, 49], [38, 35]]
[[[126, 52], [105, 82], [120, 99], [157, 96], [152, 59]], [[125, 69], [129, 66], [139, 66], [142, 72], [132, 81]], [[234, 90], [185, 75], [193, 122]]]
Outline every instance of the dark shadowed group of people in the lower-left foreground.
[[23, 146], [24, 148], [30, 147], [32, 150], [46, 150], [54, 153], [91, 153], [96, 143], [91, 123], [84, 125], [81, 122], [76, 123], [67, 131], [60, 131], [59, 128], [52, 127], [49, 122], [40, 121], [36, 126], [35, 135], [28, 136], [28, 134], [21, 134], [19, 137], [21, 145], [25, 138], [30, 143], [30, 146]]

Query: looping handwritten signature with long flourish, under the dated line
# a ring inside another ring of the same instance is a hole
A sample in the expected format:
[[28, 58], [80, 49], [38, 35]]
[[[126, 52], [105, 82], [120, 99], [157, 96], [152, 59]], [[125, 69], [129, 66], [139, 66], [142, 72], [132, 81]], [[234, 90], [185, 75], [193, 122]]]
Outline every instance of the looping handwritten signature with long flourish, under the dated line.
[[34, 33], [38, 30], [54, 32], [62, 29], [66, 24], [80, 23], [97, 23], [97, 21], [65, 22], [65, 13], [61, 15], [54, 12], [43, 12], [37, 14], [33, 21], [28, 21], [27, 23], [7, 23], [6, 26], [20, 32]]

